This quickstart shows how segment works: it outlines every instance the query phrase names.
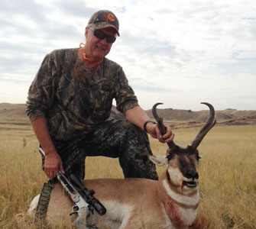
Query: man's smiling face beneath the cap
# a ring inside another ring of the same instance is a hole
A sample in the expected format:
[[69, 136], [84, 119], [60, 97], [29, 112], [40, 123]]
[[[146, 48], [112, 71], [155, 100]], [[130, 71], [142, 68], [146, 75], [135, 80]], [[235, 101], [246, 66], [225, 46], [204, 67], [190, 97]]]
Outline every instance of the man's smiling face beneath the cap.
[[[102, 31], [104, 34], [109, 36], [115, 36], [116, 34], [115, 29], [111, 27], [101, 29], [100, 31]], [[104, 39], [97, 38], [93, 34], [93, 31], [89, 29], [89, 27], [86, 27], [85, 35], [86, 35], [86, 46], [85, 46], [86, 57], [96, 62], [102, 60], [102, 58], [104, 58], [111, 50], [112, 43], [108, 43], [106, 38]]]

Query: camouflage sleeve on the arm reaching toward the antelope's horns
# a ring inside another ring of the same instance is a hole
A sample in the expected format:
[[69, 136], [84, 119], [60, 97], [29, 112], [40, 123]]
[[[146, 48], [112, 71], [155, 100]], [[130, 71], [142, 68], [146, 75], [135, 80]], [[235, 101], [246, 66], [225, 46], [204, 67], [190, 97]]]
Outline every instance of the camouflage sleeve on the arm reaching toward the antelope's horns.
[[128, 79], [126, 78], [122, 67], [118, 69], [115, 101], [116, 108], [122, 113], [125, 113], [125, 111], [138, 106], [138, 99], [134, 95], [133, 89], [131, 89], [131, 86], [128, 84]]

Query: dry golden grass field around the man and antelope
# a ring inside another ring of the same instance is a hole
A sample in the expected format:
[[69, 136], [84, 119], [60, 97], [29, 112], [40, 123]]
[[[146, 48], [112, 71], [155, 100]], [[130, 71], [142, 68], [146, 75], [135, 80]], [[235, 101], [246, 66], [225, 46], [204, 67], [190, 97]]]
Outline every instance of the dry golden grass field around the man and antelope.
[[[190, 144], [199, 127], [174, 130], [176, 144]], [[28, 125], [0, 125], [0, 228], [16, 228], [15, 214], [24, 213], [47, 181], [41, 171], [37, 140]], [[154, 154], [167, 145], [151, 139]], [[256, 228], [256, 126], [218, 126], [199, 146], [200, 204], [203, 228]], [[157, 173], [164, 168], [157, 168]], [[122, 178], [118, 160], [86, 159], [86, 178]], [[31, 227], [32, 228], [32, 227]]]

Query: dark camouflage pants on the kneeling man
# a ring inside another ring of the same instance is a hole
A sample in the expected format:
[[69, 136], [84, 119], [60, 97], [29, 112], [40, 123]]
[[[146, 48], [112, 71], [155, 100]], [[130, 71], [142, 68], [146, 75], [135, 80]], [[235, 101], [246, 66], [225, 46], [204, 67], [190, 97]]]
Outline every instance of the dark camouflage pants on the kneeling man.
[[84, 179], [86, 156], [109, 156], [118, 157], [125, 178], [157, 179], [147, 134], [126, 120], [105, 121], [93, 134], [54, 144], [67, 176]]

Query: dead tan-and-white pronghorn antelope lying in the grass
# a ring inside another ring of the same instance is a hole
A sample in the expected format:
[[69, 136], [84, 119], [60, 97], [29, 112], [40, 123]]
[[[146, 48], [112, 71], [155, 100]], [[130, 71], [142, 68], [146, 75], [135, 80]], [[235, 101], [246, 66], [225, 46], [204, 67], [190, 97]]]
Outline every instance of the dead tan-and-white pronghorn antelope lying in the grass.
[[[105, 205], [107, 213], [100, 216], [89, 214], [86, 224], [99, 228], [190, 228], [197, 215], [199, 205], [199, 175], [196, 166], [200, 156], [196, 148], [207, 132], [214, 126], [214, 108], [209, 103], [209, 118], [193, 143], [182, 148], [169, 145], [166, 156], [151, 156], [157, 166], [167, 166], [158, 181], [150, 179], [94, 179], [85, 180], [88, 189], [93, 189], [96, 198]], [[157, 104], [158, 105], [158, 104]], [[159, 127], [164, 128], [158, 118], [156, 106], [154, 117]], [[33, 218], [38, 197], [34, 198], [26, 218]], [[73, 202], [59, 184], [51, 192], [45, 222], [59, 226], [70, 224], [70, 209]], [[21, 214], [17, 217], [21, 221]], [[76, 216], [73, 216], [76, 218]], [[72, 220], [71, 220], [72, 221]], [[191, 227], [192, 228], [192, 227]]]

